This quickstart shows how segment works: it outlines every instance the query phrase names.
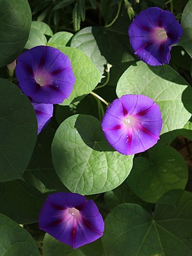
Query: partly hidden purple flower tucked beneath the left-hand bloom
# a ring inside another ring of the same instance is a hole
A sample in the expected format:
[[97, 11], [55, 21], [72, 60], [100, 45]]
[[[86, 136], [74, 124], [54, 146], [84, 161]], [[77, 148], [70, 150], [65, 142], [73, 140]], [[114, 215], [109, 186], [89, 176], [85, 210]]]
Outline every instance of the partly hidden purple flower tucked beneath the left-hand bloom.
[[38, 126], [37, 134], [40, 134], [42, 129], [44, 129], [45, 125], [51, 120], [53, 105], [35, 102], [31, 102], [31, 104], [33, 105], [36, 113], [36, 120]]

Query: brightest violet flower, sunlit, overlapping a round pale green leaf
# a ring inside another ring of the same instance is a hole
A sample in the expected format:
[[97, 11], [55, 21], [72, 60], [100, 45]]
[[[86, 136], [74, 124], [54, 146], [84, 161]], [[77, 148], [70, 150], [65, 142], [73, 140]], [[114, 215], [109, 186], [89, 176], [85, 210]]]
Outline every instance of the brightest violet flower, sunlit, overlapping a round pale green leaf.
[[159, 106], [145, 95], [123, 95], [113, 100], [102, 119], [109, 144], [124, 155], [143, 152], [159, 140], [162, 128]]

